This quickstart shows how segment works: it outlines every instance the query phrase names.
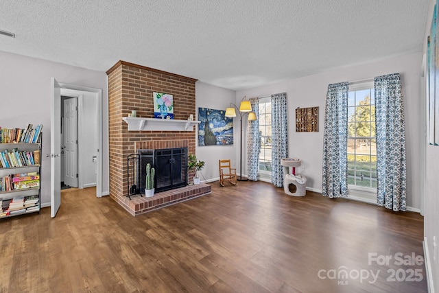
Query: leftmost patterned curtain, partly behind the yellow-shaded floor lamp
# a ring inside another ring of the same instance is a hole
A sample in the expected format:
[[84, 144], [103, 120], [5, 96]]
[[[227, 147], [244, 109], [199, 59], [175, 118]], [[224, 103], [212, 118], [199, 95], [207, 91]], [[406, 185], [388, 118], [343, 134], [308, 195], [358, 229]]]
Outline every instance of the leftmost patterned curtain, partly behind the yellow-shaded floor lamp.
[[248, 99], [257, 120], [247, 121], [247, 173], [248, 179], [258, 180], [259, 152], [261, 151], [261, 135], [259, 134], [259, 97]]

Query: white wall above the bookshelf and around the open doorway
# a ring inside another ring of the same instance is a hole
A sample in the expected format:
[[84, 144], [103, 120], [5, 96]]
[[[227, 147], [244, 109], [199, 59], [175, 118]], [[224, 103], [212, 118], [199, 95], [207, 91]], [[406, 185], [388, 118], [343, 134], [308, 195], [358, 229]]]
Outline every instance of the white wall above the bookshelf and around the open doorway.
[[[102, 89], [103, 194], [108, 194], [108, 83], [105, 72], [0, 51], [0, 126], [24, 128], [43, 124], [41, 191], [43, 205], [50, 203], [50, 79]], [[60, 172], [60, 170], [58, 170]]]

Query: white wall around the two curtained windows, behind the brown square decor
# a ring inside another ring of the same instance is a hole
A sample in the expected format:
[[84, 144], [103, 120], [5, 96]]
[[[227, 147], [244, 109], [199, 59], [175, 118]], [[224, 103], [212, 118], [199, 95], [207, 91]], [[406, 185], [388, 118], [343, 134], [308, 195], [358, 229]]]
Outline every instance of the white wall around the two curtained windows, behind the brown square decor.
[[[274, 93], [287, 93], [288, 108], [288, 153], [302, 159], [307, 176], [307, 187], [322, 189], [322, 149], [324, 108], [328, 84], [364, 80], [389, 73], [401, 73], [405, 106], [407, 140], [407, 205], [420, 209], [420, 63], [421, 54], [397, 56], [377, 62], [345, 67], [304, 78], [285, 80], [255, 89], [237, 91], [236, 102], [244, 95], [260, 97]], [[296, 132], [295, 109], [319, 107], [319, 132]], [[235, 124], [236, 125], [236, 124]], [[239, 151], [237, 151], [239, 152]], [[244, 166], [243, 166], [244, 168]]]

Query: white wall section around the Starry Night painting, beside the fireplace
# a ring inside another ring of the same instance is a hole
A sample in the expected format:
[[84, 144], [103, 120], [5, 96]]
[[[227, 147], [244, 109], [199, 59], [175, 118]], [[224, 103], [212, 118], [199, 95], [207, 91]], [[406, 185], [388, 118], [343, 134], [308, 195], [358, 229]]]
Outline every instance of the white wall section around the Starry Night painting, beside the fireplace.
[[[196, 82], [195, 84], [195, 113], [196, 120], [198, 120], [198, 108], [210, 108], [221, 110], [235, 102], [235, 91], [223, 89], [218, 86], [212, 86], [203, 82]], [[237, 121], [237, 117], [234, 118]], [[239, 119], [238, 119], [239, 122]], [[238, 128], [236, 126], [238, 125]], [[239, 123], [235, 124], [234, 132], [239, 131]], [[198, 146], [198, 131], [196, 135], [195, 153], [201, 161], [206, 162], [204, 169], [202, 169], [201, 180], [218, 180], [219, 159], [230, 159], [233, 165], [239, 165], [239, 156], [236, 155], [235, 149], [237, 146], [236, 136], [233, 145], [206, 145]]]

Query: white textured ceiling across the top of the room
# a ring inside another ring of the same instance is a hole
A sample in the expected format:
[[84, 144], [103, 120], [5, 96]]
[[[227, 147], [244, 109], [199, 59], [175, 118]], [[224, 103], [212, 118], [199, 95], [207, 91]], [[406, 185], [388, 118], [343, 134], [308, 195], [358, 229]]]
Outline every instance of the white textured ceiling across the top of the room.
[[0, 51], [247, 89], [419, 52], [429, 0], [1, 0]]

